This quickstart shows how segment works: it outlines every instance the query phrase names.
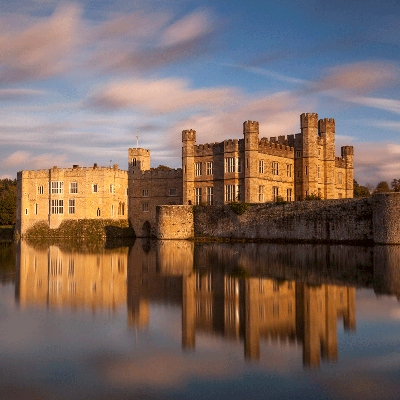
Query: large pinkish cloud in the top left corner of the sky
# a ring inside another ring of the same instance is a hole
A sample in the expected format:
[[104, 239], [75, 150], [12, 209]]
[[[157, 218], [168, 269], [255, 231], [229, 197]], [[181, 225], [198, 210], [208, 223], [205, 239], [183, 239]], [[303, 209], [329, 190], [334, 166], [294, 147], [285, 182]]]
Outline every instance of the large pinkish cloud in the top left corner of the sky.
[[67, 69], [79, 34], [80, 9], [64, 5], [48, 19], [0, 35], [0, 81], [44, 79]]

